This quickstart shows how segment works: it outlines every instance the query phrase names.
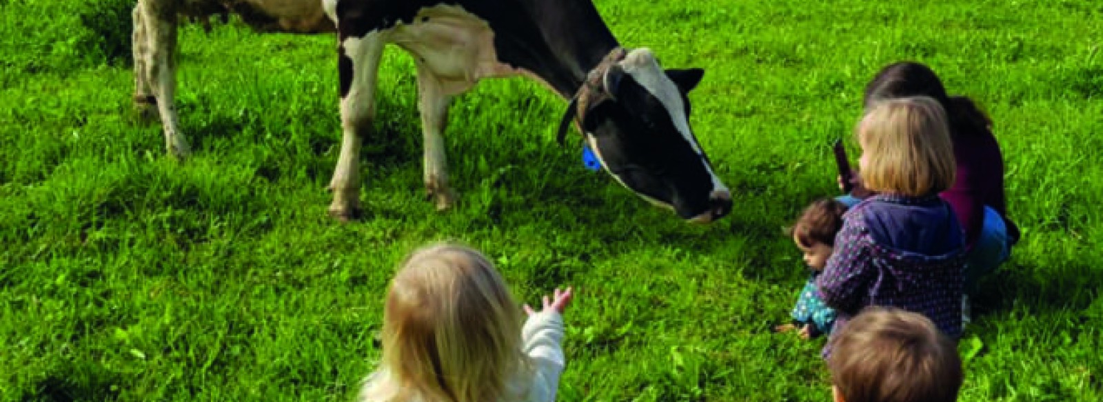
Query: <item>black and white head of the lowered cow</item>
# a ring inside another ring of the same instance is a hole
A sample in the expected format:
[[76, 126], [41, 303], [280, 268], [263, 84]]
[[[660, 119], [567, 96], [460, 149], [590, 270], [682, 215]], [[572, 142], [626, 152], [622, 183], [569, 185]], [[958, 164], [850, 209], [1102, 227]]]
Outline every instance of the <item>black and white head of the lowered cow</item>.
[[731, 194], [713, 172], [689, 128], [686, 94], [703, 70], [663, 70], [650, 50], [613, 50], [571, 99], [559, 142], [577, 121], [617, 181], [682, 219], [708, 223], [731, 210]]

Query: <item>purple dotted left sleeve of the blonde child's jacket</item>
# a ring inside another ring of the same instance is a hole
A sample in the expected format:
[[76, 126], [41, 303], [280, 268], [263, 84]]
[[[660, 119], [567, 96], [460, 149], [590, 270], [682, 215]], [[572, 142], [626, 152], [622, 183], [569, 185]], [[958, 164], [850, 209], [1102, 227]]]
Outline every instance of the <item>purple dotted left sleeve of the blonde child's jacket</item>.
[[870, 245], [869, 231], [860, 216], [849, 216], [843, 222], [835, 236], [835, 250], [816, 278], [816, 287], [827, 306], [850, 315], [864, 307], [861, 299], [876, 275]]

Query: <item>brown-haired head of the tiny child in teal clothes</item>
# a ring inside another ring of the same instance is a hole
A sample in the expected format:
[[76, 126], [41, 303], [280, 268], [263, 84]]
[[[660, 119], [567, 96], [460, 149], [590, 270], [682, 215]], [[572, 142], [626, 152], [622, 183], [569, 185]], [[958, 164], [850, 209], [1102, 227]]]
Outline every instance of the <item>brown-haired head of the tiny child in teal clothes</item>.
[[846, 205], [834, 199], [813, 201], [804, 209], [791, 229], [793, 242], [804, 253], [804, 262], [813, 269], [823, 269], [835, 247], [835, 234], [843, 228]]

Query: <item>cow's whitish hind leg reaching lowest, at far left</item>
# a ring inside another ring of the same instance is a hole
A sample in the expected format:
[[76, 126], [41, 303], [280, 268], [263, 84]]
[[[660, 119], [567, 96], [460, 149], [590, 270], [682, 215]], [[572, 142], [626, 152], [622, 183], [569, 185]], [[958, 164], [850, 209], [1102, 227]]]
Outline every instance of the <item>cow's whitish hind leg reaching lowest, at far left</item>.
[[143, 34], [146, 35], [146, 77], [153, 88], [157, 109], [164, 129], [164, 144], [176, 158], [188, 157], [188, 142], [180, 133], [174, 97], [176, 92], [176, 9], [174, 2], [142, 0]]

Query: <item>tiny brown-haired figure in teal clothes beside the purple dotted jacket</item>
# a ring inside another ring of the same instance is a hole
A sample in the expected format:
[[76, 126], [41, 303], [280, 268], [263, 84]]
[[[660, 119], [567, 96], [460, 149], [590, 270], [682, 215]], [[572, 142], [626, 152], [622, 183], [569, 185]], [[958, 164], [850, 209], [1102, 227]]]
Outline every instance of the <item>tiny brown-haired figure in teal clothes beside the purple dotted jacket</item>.
[[835, 325], [835, 310], [823, 303], [815, 281], [835, 248], [835, 234], [843, 228], [845, 212], [846, 207], [838, 201], [829, 198], [816, 200], [804, 209], [793, 225], [793, 242], [804, 253], [804, 263], [812, 273], [801, 289], [796, 306], [790, 313], [793, 322], [775, 327], [777, 331], [796, 330], [802, 339], [831, 334], [832, 326]]

